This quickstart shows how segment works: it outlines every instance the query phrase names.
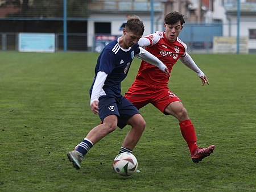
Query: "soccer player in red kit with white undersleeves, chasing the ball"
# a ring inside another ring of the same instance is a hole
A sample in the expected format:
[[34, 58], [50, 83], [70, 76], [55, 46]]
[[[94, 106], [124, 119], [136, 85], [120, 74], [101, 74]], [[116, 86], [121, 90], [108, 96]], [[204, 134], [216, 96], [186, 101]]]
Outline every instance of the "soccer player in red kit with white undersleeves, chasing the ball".
[[[178, 37], [185, 23], [183, 16], [176, 11], [167, 14], [164, 19], [166, 31], [155, 32], [141, 38], [138, 42], [139, 46], [145, 47], [148, 52], [158, 57], [167, 66], [170, 73], [172, 66], [180, 59], [184, 65], [196, 72], [197, 76], [201, 78], [203, 86], [205, 83], [209, 85], [205, 74], [188, 55], [187, 45]], [[195, 128], [188, 117], [187, 110], [168, 87], [170, 76], [166, 76], [156, 68], [148, 62], [142, 61], [137, 77], [125, 93], [125, 97], [138, 109], [152, 103], [163, 114], [175, 116], [179, 120], [181, 134], [188, 144], [192, 161], [198, 163], [209, 156], [215, 147], [214, 145], [210, 145], [208, 148], [197, 146]]]

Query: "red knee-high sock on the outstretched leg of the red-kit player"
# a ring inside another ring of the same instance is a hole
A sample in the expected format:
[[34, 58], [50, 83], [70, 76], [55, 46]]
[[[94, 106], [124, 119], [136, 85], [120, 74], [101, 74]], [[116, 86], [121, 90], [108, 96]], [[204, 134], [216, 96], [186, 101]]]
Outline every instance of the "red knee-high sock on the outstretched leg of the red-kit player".
[[197, 144], [196, 144], [195, 128], [191, 123], [190, 119], [180, 122], [180, 131], [181, 131], [181, 135], [183, 136], [183, 138], [188, 144], [188, 148], [190, 150], [191, 155], [193, 155], [193, 153], [195, 153], [197, 149]]

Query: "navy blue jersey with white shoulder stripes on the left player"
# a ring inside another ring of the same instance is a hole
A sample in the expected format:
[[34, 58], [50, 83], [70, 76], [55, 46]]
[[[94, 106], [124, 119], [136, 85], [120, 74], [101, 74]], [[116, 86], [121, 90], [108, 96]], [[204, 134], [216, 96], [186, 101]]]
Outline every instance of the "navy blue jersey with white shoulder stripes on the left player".
[[127, 76], [131, 62], [134, 56], [140, 52], [138, 43], [129, 49], [122, 49], [118, 40], [111, 41], [98, 56], [95, 67], [95, 77], [90, 88], [90, 95], [98, 72], [108, 74], [103, 86], [106, 95], [112, 94], [115, 96], [121, 95], [121, 82]]

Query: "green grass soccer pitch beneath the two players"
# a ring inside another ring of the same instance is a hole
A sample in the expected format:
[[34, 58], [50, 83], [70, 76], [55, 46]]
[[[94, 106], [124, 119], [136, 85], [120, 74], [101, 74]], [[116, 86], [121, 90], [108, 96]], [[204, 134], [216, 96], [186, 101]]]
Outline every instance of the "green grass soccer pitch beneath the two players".
[[148, 105], [133, 151], [141, 173], [121, 177], [112, 164], [129, 126], [94, 145], [80, 170], [66, 156], [100, 123], [89, 107], [98, 53], [0, 52], [0, 191], [256, 191], [256, 55], [191, 56], [210, 85], [178, 61], [169, 86], [214, 153], [194, 164], [178, 121]]

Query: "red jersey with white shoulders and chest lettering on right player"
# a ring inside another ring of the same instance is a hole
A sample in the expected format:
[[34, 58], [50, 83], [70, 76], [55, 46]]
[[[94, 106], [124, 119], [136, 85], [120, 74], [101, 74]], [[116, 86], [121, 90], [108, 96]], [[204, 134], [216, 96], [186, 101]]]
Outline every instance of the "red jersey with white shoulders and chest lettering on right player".
[[[164, 32], [155, 32], [144, 38], [150, 40], [150, 45], [145, 49], [152, 55], [158, 57], [167, 66], [170, 73], [172, 66], [174, 66], [181, 56], [185, 56], [187, 52], [187, 45], [183, 41], [177, 37], [174, 42], [170, 42], [166, 39]], [[144, 80], [152, 85], [167, 86], [170, 76], [163, 73], [157, 66], [142, 60], [136, 78], [144, 78]]]

